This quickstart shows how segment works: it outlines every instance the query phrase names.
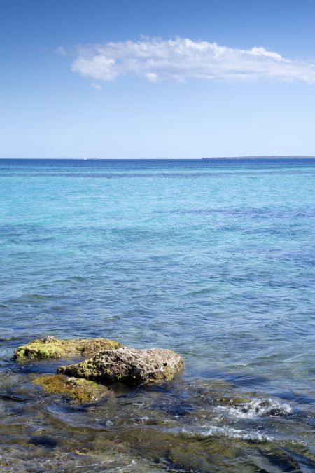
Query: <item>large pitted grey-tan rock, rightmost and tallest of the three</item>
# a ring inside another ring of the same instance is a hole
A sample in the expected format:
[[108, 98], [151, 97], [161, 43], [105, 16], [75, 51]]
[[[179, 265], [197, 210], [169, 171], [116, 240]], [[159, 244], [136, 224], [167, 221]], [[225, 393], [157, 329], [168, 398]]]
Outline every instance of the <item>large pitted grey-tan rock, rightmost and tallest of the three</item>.
[[135, 385], [170, 381], [182, 367], [183, 359], [171, 350], [123, 347], [99, 352], [82, 363], [60, 366], [57, 372], [104, 384], [120, 381]]

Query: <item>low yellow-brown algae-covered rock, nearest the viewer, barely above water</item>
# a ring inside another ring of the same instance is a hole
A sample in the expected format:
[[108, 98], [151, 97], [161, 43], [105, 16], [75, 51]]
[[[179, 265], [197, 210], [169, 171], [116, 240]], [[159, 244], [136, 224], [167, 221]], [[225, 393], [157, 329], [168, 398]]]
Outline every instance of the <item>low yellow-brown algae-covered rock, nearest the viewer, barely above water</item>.
[[33, 381], [50, 394], [65, 394], [73, 399], [73, 402], [95, 402], [109, 390], [94, 381], [86, 379], [67, 378], [60, 374], [39, 376]]

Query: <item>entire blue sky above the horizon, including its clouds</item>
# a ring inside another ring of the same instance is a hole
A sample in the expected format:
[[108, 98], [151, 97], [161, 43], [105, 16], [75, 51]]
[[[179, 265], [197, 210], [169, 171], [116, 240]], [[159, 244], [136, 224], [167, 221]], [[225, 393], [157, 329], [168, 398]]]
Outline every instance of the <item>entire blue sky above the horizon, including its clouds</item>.
[[0, 158], [315, 156], [313, 0], [0, 0]]

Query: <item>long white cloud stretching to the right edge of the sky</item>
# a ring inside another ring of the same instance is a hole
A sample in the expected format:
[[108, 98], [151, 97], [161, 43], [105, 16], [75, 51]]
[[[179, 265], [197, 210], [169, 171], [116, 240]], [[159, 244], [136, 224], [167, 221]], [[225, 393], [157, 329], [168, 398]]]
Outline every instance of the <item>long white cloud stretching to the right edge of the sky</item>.
[[262, 47], [241, 50], [207, 41], [142, 38], [141, 41], [92, 44], [79, 47], [77, 51], [71, 70], [104, 81], [135, 74], [153, 82], [202, 78], [315, 83], [315, 64], [290, 60]]

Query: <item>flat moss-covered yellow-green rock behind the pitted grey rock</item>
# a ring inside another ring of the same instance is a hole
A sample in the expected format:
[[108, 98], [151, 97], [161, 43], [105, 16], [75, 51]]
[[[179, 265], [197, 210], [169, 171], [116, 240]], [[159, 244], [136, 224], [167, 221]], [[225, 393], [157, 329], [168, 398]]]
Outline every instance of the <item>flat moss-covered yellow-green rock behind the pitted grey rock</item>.
[[20, 361], [24, 359], [43, 358], [66, 358], [94, 356], [100, 350], [113, 350], [122, 345], [115, 340], [108, 338], [71, 338], [69, 340], [58, 340], [54, 336], [45, 336], [39, 340], [34, 340], [27, 345], [18, 347], [15, 350], [14, 358]]

